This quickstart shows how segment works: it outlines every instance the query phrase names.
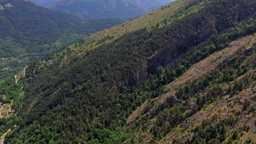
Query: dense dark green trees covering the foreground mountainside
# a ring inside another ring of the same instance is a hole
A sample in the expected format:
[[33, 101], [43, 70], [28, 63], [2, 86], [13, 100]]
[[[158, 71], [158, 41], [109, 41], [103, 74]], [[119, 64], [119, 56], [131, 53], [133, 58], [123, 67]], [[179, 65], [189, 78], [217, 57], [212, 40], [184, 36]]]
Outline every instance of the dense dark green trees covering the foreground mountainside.
[[[249, 5], [247, 0], [194, 0], [175, 16], [152, 26], [152, 30], [143, 28], [126, 33], [90, 51], [75, 51], [77, 45], [73, 45], [73, 48], [65, 48], [44, 59], [53, 60], [53, 64], [42, 63], [42, 60], [30, 65], [26, 70], [26, 78], [21, 78], [26, 83], [23, 88], [26, 97], [19, 99], [22, 106], [14, 105], [19, 110], [21, 120], [19, 126], [8, 133], [6, 142], [121, 143], [134, 137], [134, 132], [143, 133], [149, 129], [151, 118], [157, 118], [150, 128], [154, 136], [151, 142], [157, 142], [186, 119], [184, 112], [190, 104], [190, 98], [196, 98], [197, 104], [193, 109], [197, 112], [224, 93], [232, 96], [255, 80], [255, 74], [252, 73], [241, 78], [240, 82], [233, 82], [225, 90], [218, 86], [253, 68], [249, 63], [243, 63], [254, 55], [253, 47], [250, 54], [240, 54], [242, 52], [238, 51], [240, 56], [227, 58], [218, 69], [178, 87], [176, 102], [164, 104], [142, 121], [136, 121], [131, 129], [124, 127], [126, 118], [137, 106], [166, 92], [164, 84], [172, 82], [209, 54], [222, 50], [232, 40], [256, 32], [256, 2], [250, 2]], [[235, 23], [233, 20], [238, 10], [242, 10], [240, 12], [244, 16], [238, 16]], [[201, 42], [200, 32], [209, 23], [214, 25], [214, 34], [204, 36]], [[150, 56], [184, 37], [190, 43], [190, 49], [179, 47], [179, 58], [166, 68], [152, 68], [148, 79], [138, 82], [138, 73], [148, 64]], [[79, 41], [80, 46], [84, 43], [84, 40]], [[200, 95], [202, 92], [205, 93], [203, 96]], [[248, 103], [244, 103], [244, 110], [249, 110]], [[149, 103], [144, 112], [148, 112], [152, 105], [154, 102]], [[223, 142], [227, 127], [234, 123], [232, 117], [223, 122], [213, 119], [209, 123], [202, 123], [202, 126], [198, 125], [194, 129], [199, 135], [194, 135], [187, 142]], [[210, 124], [215, 126], [209, 129]], [[247, 129], [244, 126], [244, 130]], [[133, 142], [134, 138], [130, 140]]]

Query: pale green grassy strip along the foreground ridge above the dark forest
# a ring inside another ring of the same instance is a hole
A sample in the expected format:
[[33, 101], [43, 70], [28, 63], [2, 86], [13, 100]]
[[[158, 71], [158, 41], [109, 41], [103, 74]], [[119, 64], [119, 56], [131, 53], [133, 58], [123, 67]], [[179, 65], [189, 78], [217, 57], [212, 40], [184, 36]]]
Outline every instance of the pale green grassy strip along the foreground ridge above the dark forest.
[[[183, 6], [185, 6], [188, 2], [190, 2], [190, 0], [177, 0], [166, 6], [163, 6], [162, 8], [158, 8], [153, 12], [125, 22], [124, 24], [120, 24], [112, 28], [107, 28], [100, 32], [92, 34], [91, 36], [84, 38], [84, 40], [86, 40], [86, 43], [92, 42], [90, 46], [85, 46], [85, 48], [91, 48], [91, 46], [93, 46], [93, 48], [97, 47], [96, 42], [101, 41], [102, 38], [106, 36], [116, 39], [122, 36], [122, 34], [124, 33], [133, 32], [144, 27], [151, 29], [151, 27], [155, 27], [156, 24], [162, 24], [162, 22], [164, 21], [170, 21], [171, 18], [174, 17], [174, 14]], [[107, 42], [110, 41], [111, 40], [107, 40]]]

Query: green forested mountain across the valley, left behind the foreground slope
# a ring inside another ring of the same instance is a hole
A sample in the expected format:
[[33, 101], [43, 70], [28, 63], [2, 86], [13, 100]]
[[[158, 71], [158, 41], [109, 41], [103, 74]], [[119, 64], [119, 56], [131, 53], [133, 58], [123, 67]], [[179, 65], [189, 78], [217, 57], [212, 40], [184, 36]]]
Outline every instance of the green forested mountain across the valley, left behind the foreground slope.
[[24, 0], [1, 0], [0, 5], [0, 78], [66, 44], [122, 23], [116, 18], [85, 21]]

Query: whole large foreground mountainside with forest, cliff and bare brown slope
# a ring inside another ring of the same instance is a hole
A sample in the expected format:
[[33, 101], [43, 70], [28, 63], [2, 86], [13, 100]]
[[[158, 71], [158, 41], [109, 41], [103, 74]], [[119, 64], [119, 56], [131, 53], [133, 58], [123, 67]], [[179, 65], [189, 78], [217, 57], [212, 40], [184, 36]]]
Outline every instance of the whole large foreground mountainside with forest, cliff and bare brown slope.
[[4, 142], [255, 142], [254, 8], [178, 0], [42, 58], [0, 83]]

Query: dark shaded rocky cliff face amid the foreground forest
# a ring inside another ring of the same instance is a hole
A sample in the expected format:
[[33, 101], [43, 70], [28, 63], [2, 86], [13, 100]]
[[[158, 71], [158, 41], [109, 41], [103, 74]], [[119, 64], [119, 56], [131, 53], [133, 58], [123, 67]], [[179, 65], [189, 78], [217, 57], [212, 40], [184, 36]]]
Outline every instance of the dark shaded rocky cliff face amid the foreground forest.
[[[249, 8], [245, 6], [244, 9], [238, 8], [236, 11], [234, 11], [234, 17], [230, 19], [230, 22], [226, 22], [227, 25], [228, 23], [232, 25], [240, 20], [247, 19], [250, 16], [248, 9]], [[226, 26], [224, 26], [222, 29], [219, 29], [219, 30], [220, 31], [225, 30]], [[203, 42], [204, 40], [210, 38], [214, 34], [214, 32], [216, 32], [216, 29], [217, 28], [215, 27], [215, 22], [209, 21], [206, 23], [206, 26], [201, 28], [198, 36], [196, 35], [186, 36], [179, 39], [176, 43], [170, 46], [166, 46], [162, 50], [158, 51], [156, 55], [148, 58], [148, 69], [150, 71], [155, 71], [156, 68], [158, 68], [159, 66], [166, 67], [168, 64], [173, 62], [176, 58], [178, 58], [180, 54], [190, 49], [194, 41], [196, 41], [197, 44]]]

